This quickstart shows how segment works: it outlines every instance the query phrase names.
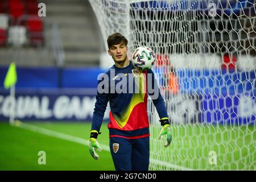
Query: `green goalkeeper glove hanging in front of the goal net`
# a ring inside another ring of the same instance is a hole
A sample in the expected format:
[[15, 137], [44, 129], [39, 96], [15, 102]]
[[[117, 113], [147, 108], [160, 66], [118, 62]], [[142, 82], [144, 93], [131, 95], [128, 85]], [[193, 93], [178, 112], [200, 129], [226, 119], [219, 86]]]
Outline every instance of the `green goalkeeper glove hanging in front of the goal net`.
[[172, 134], [171, 134], [171, 125], [168, 118], [160, 119], [161, 125], [163, 126], [162, 130], [159, 134], [159, 140], [166, 135], [164, 147], [168, 147], [172, 141]]

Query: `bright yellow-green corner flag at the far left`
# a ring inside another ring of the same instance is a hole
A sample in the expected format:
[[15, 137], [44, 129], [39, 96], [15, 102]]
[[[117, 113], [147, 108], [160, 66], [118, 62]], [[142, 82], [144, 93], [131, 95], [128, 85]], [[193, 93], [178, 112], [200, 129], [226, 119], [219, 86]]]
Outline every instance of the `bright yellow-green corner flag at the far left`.
[[17, 81], [16, 66], [15, 66], [15, 63], [11, 63], [7, 71], [3, 85], [5, 86], [5, 89], [9, 89], [11, 86], [15, 85], [16, 81]]

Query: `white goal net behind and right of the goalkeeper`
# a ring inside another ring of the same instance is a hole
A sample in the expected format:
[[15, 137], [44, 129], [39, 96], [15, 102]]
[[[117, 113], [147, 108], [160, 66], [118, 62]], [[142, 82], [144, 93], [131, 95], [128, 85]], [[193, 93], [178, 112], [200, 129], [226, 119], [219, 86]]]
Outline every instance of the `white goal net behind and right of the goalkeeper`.
[[159, 142], [148, 100], [151, 170], [255, 170], [254, 0], [90, 0], [106, 39], [120, 32], [129, 55], [152, 48], [172, 126]]

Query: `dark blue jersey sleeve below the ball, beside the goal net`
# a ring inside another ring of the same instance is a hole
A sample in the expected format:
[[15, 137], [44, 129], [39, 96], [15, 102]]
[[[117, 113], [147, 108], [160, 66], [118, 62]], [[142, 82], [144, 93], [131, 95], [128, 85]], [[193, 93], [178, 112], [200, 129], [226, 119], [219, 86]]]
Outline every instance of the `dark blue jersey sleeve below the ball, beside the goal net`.
[[[160, 93], [160, 89], [159, 89], [159, 86], [158, 86], [157, 81], [155, 79], [154, 72], [151, 69], [148, 69], [147, 74], [151, 74], [152, 75], [152, 77], [148, 77], [148, 78], [152, 78], [152, 81], [151, 81], [152, 86], [151, 86], [151, 88], [153, 88], [154, 90], [156, 90], [156, 89], [158, 90], [158, 96], [154, 97], [154, 98], [151, 97], [151, 98], [152, 98], [153, 104], [156, 107], [156, 111], [158, 112], [159, 118], [160, 119], [168, 118], [166, 105], [164, 104], [164, 100], [163, 100], [162, 94]], [[154, 93], [148, 93], [149, 96], [152, 96], [153, 94]]]

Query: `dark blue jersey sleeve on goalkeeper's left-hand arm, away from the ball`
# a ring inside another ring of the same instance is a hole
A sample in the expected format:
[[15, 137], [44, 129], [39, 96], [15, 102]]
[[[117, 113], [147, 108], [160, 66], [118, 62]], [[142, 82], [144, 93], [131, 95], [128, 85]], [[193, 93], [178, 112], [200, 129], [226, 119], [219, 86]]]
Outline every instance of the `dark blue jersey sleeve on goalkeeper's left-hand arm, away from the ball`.
[[[101, 81], [98, 81], [98, 85]], [[91, 130], [100, 131], [100, 127], [103, 121], [103, 117], [106, 111], [106, 107], [109, 102], [109, 94], [106, 92], [99, 92], [97, 89], [96, 103], [93, 111], [92, 127]]]

